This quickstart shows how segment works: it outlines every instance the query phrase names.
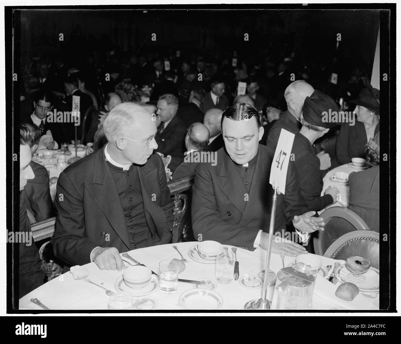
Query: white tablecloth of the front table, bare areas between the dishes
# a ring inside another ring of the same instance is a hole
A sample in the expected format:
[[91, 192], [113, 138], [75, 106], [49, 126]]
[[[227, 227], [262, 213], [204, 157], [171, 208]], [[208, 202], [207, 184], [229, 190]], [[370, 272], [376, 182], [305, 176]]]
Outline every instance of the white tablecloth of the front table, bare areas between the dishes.
[[[204, 264], [194, 261], [188, 256], [188, 250], [193, 247], [195, 242], [177, 243], [177, 247], [188, 260], [186, 269], [180, 273], [179, 278], [182, 279], [201, 279], [208, 278], [216, 281], [215, 278], [215, 263]], [[230, 247], [229, 245], [225, 245]], [[146, 265], [156, 273], [159, 272], [158, 263], [162, 259], [178, 258], [180, 256], [172, 248], [172, 244], [147, 247], [144, 249], [136, 249], [129, 252], [130, 256]], [[251, 252], [245, 249], [237, 249], [237, 260], [239, 261], [239, 276], [245, 274], [257, 275], [264, 269], [266, 251], [258, 247]], [[323, 265], [334, 265], [334, 259], [320, 257]], [[293, 257], [285, 257], [285, 265], [288, 266]], [[345, 263], [344, 261], [340, 261]], [[114, 283], [118, 277], [123, 274], [123, 271], [100, 270], [95, 263], [84, 265], [89, 271], [88, 278], [94, 283], [101, 284], [103, 287], [116, 291]], [[282, 261], [279, 255], [271, 254], [270, 269], [275, 273], [282, 268]], [[352, 302], [347, 302], [339, 299], [334, 295], [339, 284], [334, 285], [327, 279], [317, 275], [313, 295], [314, 310], [330, 310], [332, 308], [343, 308], [346, 310], [378, 310], [379, 297], [370, 299], [359, 293]], [[188, 289], [192, 289], [191, 283], [178, 282], [178, 289], [172, 294], [164, 294], [158, 288], [151, 293], [150, 297], [154, 297], [158, 301], [155, 312], [158, 310], [185, 310], [179, 305], [179, 297]], [[214, 290], [223, 298], [223, 305], [219, 311], [224, 310], [243, 310], [246, 302], [252, 299], [259, 299], [262, 294], [262, 287], [258, 289], [247, 289], [243, 287], [239, 280], [233, 280], [228, 284], [217, 283], [217, 288]], [[135, 295], [135, 293], [133, 293]], [[30, 299], [36, 297], [45, 306], [51, 310], [108, 310], [109, 296], [105, 291], [96, 285], [82, 280], [73, 279], [73, 275], [67, 272], [60, 277], [56, 277], [45, 283], [41, 287], [31, 291], [19, 300], [20, 310], [43, 310], [41, 307], [30, 302]]]

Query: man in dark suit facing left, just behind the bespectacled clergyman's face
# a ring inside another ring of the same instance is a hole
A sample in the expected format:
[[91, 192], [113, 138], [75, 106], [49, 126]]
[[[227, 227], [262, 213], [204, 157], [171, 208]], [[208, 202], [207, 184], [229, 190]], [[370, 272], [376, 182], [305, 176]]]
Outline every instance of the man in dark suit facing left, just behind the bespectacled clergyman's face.
[[170, 93], [160, 96], [157, 102], [157, 120], [158, 125], [155, 140], [158, 144], [159, 153], [164, 156], [171, 155], [171, 162], [168, 165], [171, 172], [184, 159], [184, 138], [186, 135], [185, 125], [178, 117], [178, 99]]

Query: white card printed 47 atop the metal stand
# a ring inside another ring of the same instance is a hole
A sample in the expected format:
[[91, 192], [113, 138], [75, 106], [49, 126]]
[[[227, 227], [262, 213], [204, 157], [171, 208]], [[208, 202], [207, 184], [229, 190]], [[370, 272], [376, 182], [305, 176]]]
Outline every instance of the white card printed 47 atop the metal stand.
[[295, 135], [287, 130], [281, 130], [271, 164], [269, 183], [278, 188], [278, 191], [282, 194], [286, 191], [288, 162], [290, 162], [294, 137]]

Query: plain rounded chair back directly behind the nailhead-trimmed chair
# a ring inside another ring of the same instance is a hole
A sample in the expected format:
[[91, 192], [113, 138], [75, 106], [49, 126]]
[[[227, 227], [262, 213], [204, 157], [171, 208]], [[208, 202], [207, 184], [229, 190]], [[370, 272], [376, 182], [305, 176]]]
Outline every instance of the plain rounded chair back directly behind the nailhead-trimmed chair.
[[317, 255], [323, 255], [328, 247], [342, 235], [365, 230], [369, 231], [367, 224], [352, 210], [342, 206], [333, 206], [320, 214], [326, 225], [324, 231], [313, 234], [313, 245]]

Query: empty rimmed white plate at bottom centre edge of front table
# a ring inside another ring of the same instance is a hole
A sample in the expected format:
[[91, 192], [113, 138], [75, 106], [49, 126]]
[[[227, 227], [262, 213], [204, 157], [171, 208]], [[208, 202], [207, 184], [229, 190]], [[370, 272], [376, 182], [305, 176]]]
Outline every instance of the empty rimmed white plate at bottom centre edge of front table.
[[178, 302], [187, 310], [218, 310], [223, 298], [213, 290], [189, 289], [181, 294]]

